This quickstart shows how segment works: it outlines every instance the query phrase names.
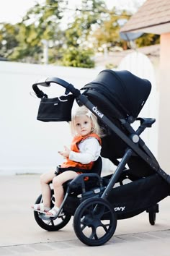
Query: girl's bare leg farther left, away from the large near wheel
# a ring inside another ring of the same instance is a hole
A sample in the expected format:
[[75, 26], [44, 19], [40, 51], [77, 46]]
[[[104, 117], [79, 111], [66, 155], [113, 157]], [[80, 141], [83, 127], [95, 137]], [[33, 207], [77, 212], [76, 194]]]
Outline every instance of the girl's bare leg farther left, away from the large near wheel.
[[40, 176], [43, 204], [47, 208], [50, 208], [50, 199], [51, 199], [49, 182], [52, 182], [54, 177], [55, 177], [54, 171], [49, 171], [48, 173], [42, 174]]

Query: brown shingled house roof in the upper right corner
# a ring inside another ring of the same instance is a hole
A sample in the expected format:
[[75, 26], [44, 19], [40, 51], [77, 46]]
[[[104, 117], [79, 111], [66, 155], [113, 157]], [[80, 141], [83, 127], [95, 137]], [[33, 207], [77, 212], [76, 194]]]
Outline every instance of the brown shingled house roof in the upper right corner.
[[170, 32], [170, 1], [147, 0], [120, 32], [162, 34]]

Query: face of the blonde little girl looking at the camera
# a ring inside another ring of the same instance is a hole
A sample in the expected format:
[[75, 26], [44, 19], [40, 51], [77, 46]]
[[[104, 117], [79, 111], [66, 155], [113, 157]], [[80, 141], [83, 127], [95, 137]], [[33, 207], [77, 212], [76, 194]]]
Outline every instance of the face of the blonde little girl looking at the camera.
[[91, 119], [89, 116], [76, 116], [75, 117], [75, 129], [76, 133], [81, 136], [89, 135], [91, 132]]

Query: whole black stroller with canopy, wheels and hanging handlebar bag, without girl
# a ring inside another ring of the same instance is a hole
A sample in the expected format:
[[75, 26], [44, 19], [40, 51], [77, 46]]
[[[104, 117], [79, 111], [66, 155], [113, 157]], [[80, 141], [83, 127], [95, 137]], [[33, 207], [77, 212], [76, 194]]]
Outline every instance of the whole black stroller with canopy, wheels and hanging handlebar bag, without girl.
[[[52, 83], [66, 88], [66, 95], [48, 98], [39, 85], [49, 87]], [[156, 121], [138, 117], [151, 92], [151, 83], [128, 71], [106, 69], [81, 90], [57, 77], [36, 82], [32, 88], [41, 98], [38, 120], [70, 121], [74, 100], [89, 108], [106, 132], [101, 155], [117, 166], [113, 174], [101, 177], [102, 160], [98, 158], [89, 174], [80, 174], [64, 184], [65, 197], [60, 208], [64, 216], [49, 219], [35, 211], [37, 224], [42, 229], [57, 231], [73, 216], [76, 236], [89, 246], [106, 243], [115, 233], [117, 220], [143, 211], [148, 212], [149, 222], [154, 225], [158, 202], [170, 193], [170, 176], [140, 138]], [[136, 130], [134, 122], [139, 124]], [[88, 181], [84, 181], [84, 176], [89, 176]], [[54, 200], [51, 187], [51, 207]], [[35, 203], [40, 202], [41, 195]]]

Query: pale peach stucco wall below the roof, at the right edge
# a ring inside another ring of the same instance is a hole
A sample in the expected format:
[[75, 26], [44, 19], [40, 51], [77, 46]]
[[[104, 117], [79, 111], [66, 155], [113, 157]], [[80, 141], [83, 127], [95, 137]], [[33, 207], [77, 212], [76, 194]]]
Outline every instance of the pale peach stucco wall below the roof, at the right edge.
[[170, 33], [161, 35], [159, 70], [158, 161], [161, 168], [170, 174]]

